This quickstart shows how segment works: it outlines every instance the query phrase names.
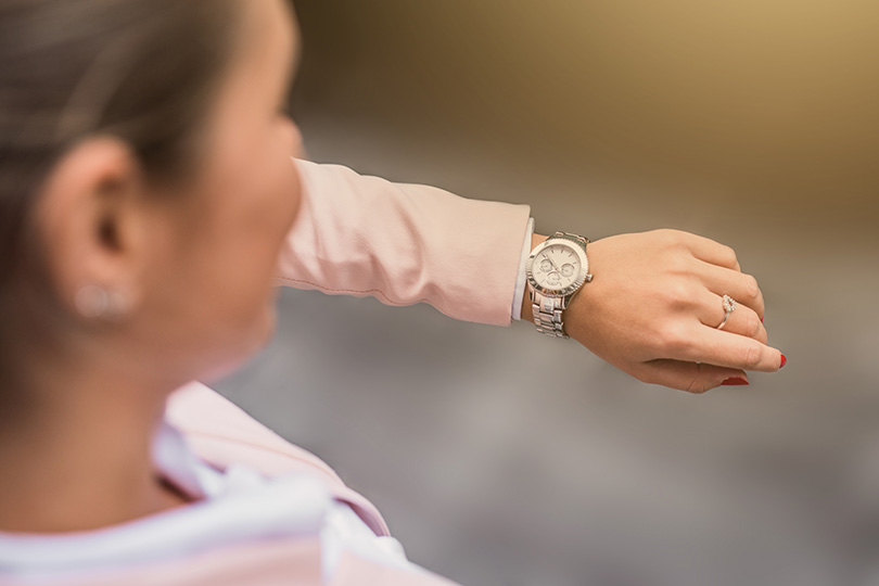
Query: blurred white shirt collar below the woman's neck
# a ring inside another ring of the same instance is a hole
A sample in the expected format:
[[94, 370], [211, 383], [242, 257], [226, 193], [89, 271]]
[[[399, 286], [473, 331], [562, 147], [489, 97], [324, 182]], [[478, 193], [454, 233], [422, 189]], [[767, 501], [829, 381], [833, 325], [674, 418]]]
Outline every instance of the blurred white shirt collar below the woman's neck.
[[267, 479], [200, 460], [182, 434], [162, 422], [153, 460], [171, 484], [196, 502], [95, 531], [63, 535], [0, 532], [0, 577], [43, 579], [167, 561], [259, 538], [319, 535], [333, 498], [307, 474]]

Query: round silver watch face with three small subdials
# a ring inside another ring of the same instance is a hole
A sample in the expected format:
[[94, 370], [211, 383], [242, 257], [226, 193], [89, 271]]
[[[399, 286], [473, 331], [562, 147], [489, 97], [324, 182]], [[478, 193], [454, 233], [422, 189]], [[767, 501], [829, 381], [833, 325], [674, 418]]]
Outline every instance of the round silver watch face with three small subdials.
[[525, 273], [535, 289], [550, 295], [568, 295], [583, 284], [588, 272], [586, 253], [573, 242], [549, 239], [534, 249]]

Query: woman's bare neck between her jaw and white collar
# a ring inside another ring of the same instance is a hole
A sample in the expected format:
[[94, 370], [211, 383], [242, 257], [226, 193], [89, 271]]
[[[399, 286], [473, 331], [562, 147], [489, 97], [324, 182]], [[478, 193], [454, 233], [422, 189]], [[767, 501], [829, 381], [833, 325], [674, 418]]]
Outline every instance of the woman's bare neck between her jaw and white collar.
[[28, 380], [0, 426], [0, 531], [89, 531], [181, 504], [151, 454], [173, 385], [81, 368]]

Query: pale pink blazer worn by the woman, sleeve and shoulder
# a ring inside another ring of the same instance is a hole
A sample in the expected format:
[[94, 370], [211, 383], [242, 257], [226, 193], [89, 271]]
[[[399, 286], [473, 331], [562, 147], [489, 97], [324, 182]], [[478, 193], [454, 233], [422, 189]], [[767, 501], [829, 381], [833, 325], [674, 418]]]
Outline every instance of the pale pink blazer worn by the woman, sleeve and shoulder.
[[[511, 322], [527, 205], [467, 200], [435, 188], [362, 177], [336, 165], [296, 165], [303, 202], [281, 257], [281, 283], [328, 294], [371, 295], [387, 305], [424, 302], [460, 320]], [[192, 383], [178, 390], [168, 402], [167, 419], [204, 460], [220, 468], [246, 463], [272, 475], [296, 471], [318, 475], [377, 535], [390, 534], [375, 507], [345, 486], [326, 463], [209, 388]], [[321, 584], [320, 544], [317, 536], [251, 543], [149, 569], [52, 584], [317, 585]], [[347, 553], [332, 584], [451, 583]]]

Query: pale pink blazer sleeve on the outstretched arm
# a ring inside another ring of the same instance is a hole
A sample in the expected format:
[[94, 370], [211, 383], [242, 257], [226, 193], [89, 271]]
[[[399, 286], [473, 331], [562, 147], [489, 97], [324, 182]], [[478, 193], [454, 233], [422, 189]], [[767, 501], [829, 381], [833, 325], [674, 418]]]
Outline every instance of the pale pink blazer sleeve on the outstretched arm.
[[281, 253], [281, 284], [511, 323], [528, 205], [294, 163], [302, 203]]

